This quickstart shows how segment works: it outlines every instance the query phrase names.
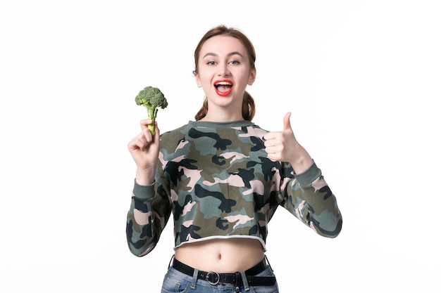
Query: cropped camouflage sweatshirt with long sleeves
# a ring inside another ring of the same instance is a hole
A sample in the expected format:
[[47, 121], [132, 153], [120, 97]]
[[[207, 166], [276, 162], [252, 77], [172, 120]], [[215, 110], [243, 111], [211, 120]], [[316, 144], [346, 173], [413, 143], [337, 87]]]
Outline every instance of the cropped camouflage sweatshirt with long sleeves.
[[342, 216], [315, 162], [294, 174], [268, 159], [264, 131], [248, 121], [189, 122], [161, 134], [155, 183], [135, 186], [127, 240], [137, 256], [151, 252], [173, 215], [175, 247], [247, 237], [266, 249], [268, 222], [278, 206], [319, 235], [336, 237]]

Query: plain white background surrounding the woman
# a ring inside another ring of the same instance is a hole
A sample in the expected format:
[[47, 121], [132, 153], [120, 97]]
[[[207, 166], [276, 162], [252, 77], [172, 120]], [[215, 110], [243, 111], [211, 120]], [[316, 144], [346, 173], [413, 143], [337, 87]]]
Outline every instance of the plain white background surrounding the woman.
[[254, 122], [293, 113], [344, 217], [330, 240], [278, 209], [280, 292], [441, 292], [437, 3], [1, 1], [0, 292], [160, 292], [171, 225], [143, 258], [125, 240], [134, 99], [166, 94], [161, 131], [193, 119], [218, 24], [256, 47]]

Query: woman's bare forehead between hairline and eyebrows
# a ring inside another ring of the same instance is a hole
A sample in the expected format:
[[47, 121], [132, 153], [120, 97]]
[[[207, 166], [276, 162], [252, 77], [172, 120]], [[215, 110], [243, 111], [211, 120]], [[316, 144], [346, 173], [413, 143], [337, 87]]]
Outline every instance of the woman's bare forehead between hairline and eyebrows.
[[247, 51], [239, 39], [230, 36], [216, 36], [206, 40], [202, 45], [200, 57], [207, 53], [214, 53], [218, 56], [227, 55], [232, 52], [238, 52], [242, 56], [247, 56]]

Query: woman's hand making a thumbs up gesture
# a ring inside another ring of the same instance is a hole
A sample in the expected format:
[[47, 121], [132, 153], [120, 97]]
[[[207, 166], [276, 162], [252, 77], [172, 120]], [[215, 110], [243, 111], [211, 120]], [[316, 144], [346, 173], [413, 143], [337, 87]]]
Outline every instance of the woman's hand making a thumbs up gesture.
[[303, 173], [311, 167], [312, 159], [294, 136], [290, 122], [291, 112], [283, 117], [283, 130], [268, 132], [265, 138], [265, 148], [268, 159], [280, 162], [290, 162], [296, 174]]

